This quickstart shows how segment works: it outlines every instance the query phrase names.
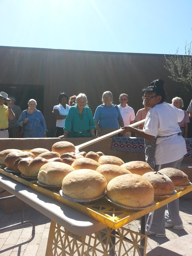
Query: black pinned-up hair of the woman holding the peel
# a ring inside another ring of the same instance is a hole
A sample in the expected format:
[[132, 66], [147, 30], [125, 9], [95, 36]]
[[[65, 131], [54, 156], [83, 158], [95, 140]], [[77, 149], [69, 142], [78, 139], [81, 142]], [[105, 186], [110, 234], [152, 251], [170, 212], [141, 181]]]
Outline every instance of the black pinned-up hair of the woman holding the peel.
[[163, 103], [166, 99], [166, 93], [163, 89], [164, 84], [165, 84], [165, 82], [163, 79], [154, 80], [152, 83], [150, 83], [150, 85], [147, 88], [144, 88], [142, 90], [142, 93], [143, 93], [143, 95], [145, 93], [148, 93], [148, 94], [155, 93], [156, 96], [162, 97], [160, 100], [160, 103]]

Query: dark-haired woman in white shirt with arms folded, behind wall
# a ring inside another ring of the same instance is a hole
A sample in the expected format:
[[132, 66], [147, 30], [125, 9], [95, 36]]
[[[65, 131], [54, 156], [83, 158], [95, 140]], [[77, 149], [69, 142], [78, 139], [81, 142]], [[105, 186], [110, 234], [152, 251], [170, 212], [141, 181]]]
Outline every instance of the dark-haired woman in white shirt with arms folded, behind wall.
[[53, 114], [56, 119], [56, 132], [55, 137], [63, 135], [63, 127], [65, 124], [65, 118], [69, 112], [70, 106], [67, 104], [69, 98], [66, 93], [60, 93], [58, 97], [59, 105], [53, 107]]

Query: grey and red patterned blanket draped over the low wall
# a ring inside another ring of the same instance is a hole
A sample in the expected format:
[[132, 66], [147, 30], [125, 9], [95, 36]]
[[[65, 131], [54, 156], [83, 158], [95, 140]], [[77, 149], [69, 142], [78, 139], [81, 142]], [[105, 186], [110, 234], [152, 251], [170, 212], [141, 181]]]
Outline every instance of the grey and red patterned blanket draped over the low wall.
[[[112, 137], [112, 150], [130, 152], [130, 153], [145, 153], [144, 139], [136, 137]], [[192, 157], [192, 138], [186, 138], [187, 154], [185, 157]]]

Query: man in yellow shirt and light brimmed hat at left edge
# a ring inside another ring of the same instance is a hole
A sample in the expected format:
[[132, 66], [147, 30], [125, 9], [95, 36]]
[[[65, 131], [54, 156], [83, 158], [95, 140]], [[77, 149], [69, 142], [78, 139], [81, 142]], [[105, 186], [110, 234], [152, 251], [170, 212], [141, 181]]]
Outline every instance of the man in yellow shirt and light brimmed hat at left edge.
[[[7, 106], [4, 104], [5, 102], [7, 102]], [[12, 112], [8, 94], [0, 92], [0, 138], [9, 138], [8, 118], [12, 120], [14, 117], [15, 114]]]

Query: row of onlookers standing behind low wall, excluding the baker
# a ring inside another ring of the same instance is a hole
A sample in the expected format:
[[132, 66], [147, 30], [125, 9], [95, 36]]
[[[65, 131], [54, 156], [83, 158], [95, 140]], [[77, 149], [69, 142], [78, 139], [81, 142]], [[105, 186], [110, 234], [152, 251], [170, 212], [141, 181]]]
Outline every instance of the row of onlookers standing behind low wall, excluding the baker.
[[[101, 102], [102, 104], [96, 108], [93, 115], [85, 94], [81, 93], [78, 96], [72, 95], [68, 97], [66, 93], [60, 93], [58, 96], [59, 104], [53, 106], [52, 111], [56, 119], [55, 137], [99, 137], [145, 119], [151, 108], [149, 102], [143, 100], [144, 108], [139, 109], [135, 115], [134, 109], [128, 105], [127, 94], [120, 94], [120, 104], [116, 105], [113, 103], [113, 95], [110, 91], [103, 93]], [[2, 118], [0, 121], [0, 138], [17, 138], [21, 129], [23, 130], [24, 138], [46, 137], [48, 130], [45, 118], [36, 109], [36, 100], [30, 99], [28, 108], [23, 112], [15, 103], [14, 96], [9, 96], [8, 98], [7, 93], [1, 92], [0, 115]], [[192, 100], [187, 111], [183, 110], [183, 100], [180, 97], [174, 97], [171, 104], [181, 109], [184, 113], [184, 118], [178, 124], [182, 137], [187, 138], [189, 118], [192, 119]], [[3, 110], [6, 110], [6, 112]], [[144, 123], [136, 128], [143, 130], [143, 127]], [[127, 131], [121, 136], [139, 137], [140, 135]]]

